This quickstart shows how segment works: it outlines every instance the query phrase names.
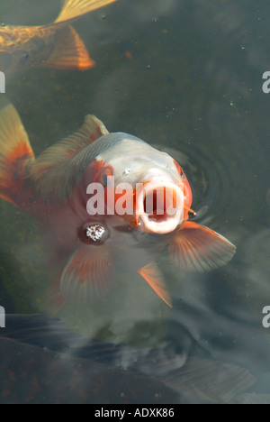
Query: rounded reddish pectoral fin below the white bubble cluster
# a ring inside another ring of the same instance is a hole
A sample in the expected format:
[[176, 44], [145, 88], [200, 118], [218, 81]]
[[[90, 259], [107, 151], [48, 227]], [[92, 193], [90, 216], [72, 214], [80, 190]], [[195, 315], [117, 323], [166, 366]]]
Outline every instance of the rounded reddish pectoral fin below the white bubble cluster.
[[60, 290], [67, 301], [85, 306], [112, 284], [114, 266], [105, 246], [81, 246], [63, 271]]

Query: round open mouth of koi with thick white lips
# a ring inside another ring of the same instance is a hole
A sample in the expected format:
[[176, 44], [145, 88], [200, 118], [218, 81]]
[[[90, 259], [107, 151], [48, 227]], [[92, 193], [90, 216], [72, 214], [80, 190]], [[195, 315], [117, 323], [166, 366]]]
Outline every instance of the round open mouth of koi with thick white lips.
[[171, 233], [181, 225], [183, 217], [184, 194], [177, 184], [152, 179], [138, 189], [136, 221], [144, 231], [156, 234]]

